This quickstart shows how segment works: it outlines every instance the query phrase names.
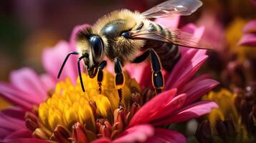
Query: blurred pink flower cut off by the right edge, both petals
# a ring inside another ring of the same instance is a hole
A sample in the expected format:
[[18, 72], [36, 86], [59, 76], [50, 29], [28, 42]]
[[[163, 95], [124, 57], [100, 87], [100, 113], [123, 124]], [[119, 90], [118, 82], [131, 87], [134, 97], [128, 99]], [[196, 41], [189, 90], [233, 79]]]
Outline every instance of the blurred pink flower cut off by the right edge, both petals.
[[256, 20], [248, 22], [242, 31], [244, 36], [242, 36], [238, 44], [256, 47]]

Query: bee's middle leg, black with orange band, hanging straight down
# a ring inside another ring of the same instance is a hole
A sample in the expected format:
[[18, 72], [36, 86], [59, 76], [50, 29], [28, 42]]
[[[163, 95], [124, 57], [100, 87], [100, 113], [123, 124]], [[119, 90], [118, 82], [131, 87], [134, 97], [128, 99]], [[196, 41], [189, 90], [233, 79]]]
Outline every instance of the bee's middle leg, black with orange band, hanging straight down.
[[122, 98], [123, 98], [122, 87], [125, 85], [125, 78], [123, 76], [120, 60], [118, 58], [115, 58], [114, 62], [115, 62], [115, 89], [118, 90], [119, 107], [120, 107], [122, 104]]

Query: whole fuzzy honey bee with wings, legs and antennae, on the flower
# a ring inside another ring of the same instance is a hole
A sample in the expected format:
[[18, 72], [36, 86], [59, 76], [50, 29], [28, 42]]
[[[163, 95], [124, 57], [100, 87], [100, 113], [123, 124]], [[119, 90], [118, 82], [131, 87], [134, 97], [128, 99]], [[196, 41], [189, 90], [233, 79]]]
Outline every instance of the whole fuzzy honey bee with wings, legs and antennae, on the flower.
[[[161, 68], [171, 71], [179, 61], [181, 54], [178, 46], [198, 49], [210, 49], [211, 47], [204, 41], [196, 39], [192, 34], [180, 29], [165, 28], [151, 19], [174, 15], [187, 16], [200, 6], [202, 6], [202, 1], [199, 0], [169, 0], [143, 13], [122, 9], [106, 14], [93, 26], [77, 32], [75, 36], [77, 51], [72, 51], [66, 56], [58, 78], [68, 57], [71, 54], [79, 54], [77, 67], [82, 91], [85, 92], [80, 69], [81, 60], [90, 78], [98, 75], [101, 93], [103, 69], [107, 64], [105, 60], [107, 57], [114, 62], [115, 89], [121, 101], [122, 87], [125, 84], [122, 66], [128, 62], [141, 63], [150, 56], [152, 84], [156, 94], [160, 93], [164, 87]], [[140, 51], [142, 54], [137, 56]], [[165, 56], [161, 56], [163, 54]]]

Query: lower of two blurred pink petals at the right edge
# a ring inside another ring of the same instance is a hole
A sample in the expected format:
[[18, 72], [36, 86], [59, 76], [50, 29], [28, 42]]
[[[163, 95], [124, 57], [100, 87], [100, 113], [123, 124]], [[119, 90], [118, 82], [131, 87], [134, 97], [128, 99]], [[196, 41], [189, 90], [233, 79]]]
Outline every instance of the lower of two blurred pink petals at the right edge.
[[242, 39], [238, 42], [239, 45], [243, 46], [255, 46], [256, 47], [256, 34], [245, 34]]

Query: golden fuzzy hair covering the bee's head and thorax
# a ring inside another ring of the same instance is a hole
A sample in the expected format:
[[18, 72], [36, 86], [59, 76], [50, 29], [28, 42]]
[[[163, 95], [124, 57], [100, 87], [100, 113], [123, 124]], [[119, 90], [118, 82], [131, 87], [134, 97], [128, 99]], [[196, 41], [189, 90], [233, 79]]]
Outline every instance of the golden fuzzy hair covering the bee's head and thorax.
[[[123, 31], [146, 30], [150, 21], [137, 11], [122, 9], [103, 16], [88, 29], [80, 29], [76, 36], [76, 46], [80, 53], [90, 53], [90, 43], [87, 40], [90, 34], [97, 34], [103, 39], [104, 53], [113, 60], [120, 58], [121, 64], [136, 58], [138, 51], [145, 45], [146, 40], [126, 39], [121, 36]], [[115, 26], [115, 30], [114, 29]], [[113, 30], [110, 34], [108, 31]], [[107, 31], [107, 32], [106, 32]], [[101, 59], [100, 59], [101, 60]]]

